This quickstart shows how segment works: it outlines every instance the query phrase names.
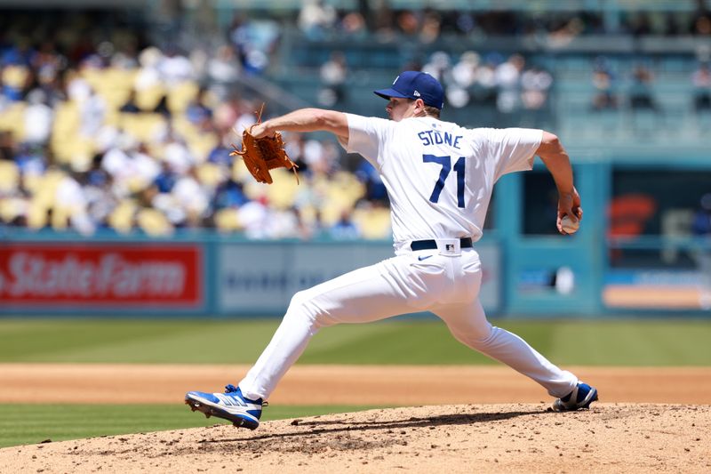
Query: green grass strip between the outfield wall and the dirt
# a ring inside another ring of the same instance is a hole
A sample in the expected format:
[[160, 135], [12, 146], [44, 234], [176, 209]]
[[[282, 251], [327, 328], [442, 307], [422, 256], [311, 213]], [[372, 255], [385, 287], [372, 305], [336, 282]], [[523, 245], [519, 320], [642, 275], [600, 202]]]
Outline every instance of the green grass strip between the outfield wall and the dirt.
[[[711, 366], [711, 320], [494, 324], [567, 366]], [[276, 319], [0, 319], [0, 363], [251, 364], [276, 325]], [[435, 320], [325, 328], [299, 363], [493, 364]]]

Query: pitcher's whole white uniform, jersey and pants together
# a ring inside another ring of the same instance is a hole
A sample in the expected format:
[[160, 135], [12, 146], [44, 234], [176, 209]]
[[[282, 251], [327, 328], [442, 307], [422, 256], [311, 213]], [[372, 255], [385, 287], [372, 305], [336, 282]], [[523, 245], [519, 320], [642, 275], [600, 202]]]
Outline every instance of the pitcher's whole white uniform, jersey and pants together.
[[[571, 393], [575, 375], [487, 321], [479, 301], [479, 255], [459, 248], [458, 239], [482, 236], [494, 183], [531, 169], [543, 133], [355, 115], [348, 115], [348, 128], [348, 151], [368, 159], [387, 188], [395, 257], [296, 293], [267, 349], [239, 383], [244, 396], [268, 398], [320, 328], [413, 311], [441, 317], [458, 341], [531, 377], [550, 395]], [[430, 239], [436, 250], [411, 250], [412, 240]]]

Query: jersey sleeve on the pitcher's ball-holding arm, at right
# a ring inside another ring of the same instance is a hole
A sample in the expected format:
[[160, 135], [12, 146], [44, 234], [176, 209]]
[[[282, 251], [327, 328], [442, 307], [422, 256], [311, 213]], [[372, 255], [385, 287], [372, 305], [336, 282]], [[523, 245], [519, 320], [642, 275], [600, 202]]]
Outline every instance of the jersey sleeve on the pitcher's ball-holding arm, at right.
[[532, 128], [487, 129], [487, 149], [496, 162], [497, 179], [507, 173], [528, 171], [543, 140], [543, 131]]

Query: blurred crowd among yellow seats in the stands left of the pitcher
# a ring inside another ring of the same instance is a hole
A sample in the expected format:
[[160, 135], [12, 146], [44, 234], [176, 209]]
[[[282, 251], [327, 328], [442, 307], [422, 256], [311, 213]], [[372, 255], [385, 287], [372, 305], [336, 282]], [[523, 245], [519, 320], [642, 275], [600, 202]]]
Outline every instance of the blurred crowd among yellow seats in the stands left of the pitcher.
[[91, 43], [73, 37], [81, 31], [73, 27], [39, 43], [15, 32], [3, 38], [2, 225], [388, 237], [382, 183], [360, 160], [345, 169], [335, 142], [284, 137], [299, 185], [278, 172], [278, 186], [258, 184], [230, 156], [261, 106], [235, 84], [244, 68], [235, 44], [187, 54], [121, 32]]

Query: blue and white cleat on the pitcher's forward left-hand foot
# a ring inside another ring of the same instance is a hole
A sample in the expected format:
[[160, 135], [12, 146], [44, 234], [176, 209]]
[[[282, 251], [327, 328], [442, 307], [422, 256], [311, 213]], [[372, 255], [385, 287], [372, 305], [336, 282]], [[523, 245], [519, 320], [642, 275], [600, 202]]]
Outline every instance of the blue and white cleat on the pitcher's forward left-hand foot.
[[193, 411], [202, 412], [205, 418], [217, 416], [229, 420], [236, 427], [256, 429], [260, 426], [262, 399], [250, 400], [242, 395], [242, 390], [234, 385], [225, 387], [225, 393], [204, 393], [188, 391], [185, 403]]

